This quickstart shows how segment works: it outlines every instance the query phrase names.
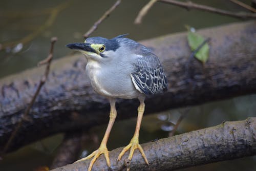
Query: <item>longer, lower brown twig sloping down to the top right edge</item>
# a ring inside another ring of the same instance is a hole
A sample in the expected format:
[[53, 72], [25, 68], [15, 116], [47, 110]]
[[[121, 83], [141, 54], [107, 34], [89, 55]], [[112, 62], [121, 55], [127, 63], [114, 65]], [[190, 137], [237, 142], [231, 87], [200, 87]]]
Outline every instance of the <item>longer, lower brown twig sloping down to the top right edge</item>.
[[245, 12], [235, 13], [235, 12], [225, 11], [222, 9], [212, 8], [212, 7], [209, 7], [206, 5], [195, 4], [192, 2], [180, 2], [180, 1], [175, 1], [175, 0], [159, 0], [159, 2], [176, 5], [176, 6], [185, 8], [187, 10], [198, 9], [198, 10], [202, 10], [202, 11], [236, 17], [236, 18], [240, 18], [240, 19], [256, 18], [256, 14], [253, 14], [253, 13], [245, 13]]

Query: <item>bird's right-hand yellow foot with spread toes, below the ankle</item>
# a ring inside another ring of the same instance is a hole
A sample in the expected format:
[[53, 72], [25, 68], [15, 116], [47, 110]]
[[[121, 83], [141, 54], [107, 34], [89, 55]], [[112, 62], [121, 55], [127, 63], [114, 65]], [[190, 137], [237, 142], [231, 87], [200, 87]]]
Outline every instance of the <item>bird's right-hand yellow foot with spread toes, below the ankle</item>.
[[125, 147], [123, 148], [123, 150], [122, 150], [122, 152], [119, 154], [117, 160], [119, 161], [119, 160], [122, 158], [122, 156], [124, 155], [124, 153], [125, 153], [126, 151], [128, 151], [130, 148], [131, 148], [131, 150], [130, 150], [130, 154], [129, 154], [129, 157], [128, 157], [129, 160], [132, 160], [132, 158], [133, 158], [133, 153], [134, 153], [135, 149], [138, 148], [139, 151], [140, 151], [140, 153], [141, 153], [141, 155], [142, 155], [142, 157], [144, 158], [146, 164], [148, 164], [148, 161], [147, 161], [147, 159], [146, 159], [146, 155], [145, 155], [145, 153], [144, 153], [144, 151], [143, 151], [141, 145], [139, 144], [139, 137], [138, 137], [138, 136], [134, 136], [134, 137], [132, 138], [130, 144], [128, 144], [127, 146], [125, 146]]

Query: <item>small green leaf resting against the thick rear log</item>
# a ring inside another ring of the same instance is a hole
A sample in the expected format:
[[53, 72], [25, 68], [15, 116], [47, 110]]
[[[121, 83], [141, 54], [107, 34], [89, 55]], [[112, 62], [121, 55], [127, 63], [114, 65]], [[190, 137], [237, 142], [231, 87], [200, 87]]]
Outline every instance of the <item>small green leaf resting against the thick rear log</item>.
[[[205, 39], [203, 36], [191, 32], [190, 29], [188, 29], [187, 40], [191, 51], [195, 51]], [[209, 57], [209, 45], [205, 43], [204, 46], [196, 53], [195, 57], [205, 63]]]

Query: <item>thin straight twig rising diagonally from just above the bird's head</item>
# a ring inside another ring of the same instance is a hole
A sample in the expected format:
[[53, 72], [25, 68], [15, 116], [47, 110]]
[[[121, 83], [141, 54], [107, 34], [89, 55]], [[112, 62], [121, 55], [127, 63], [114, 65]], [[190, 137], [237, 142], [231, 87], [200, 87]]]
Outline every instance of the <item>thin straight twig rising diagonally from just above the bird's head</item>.
[[90, 36], [90, 34], [92, 34], [98, 28], [99, 24], [101, 24], [101, 22], [103, 22], [103, 20], [106, 19], [116, 9], [116, 7], [120, 3], [121, 3], [121, 0], [116, 1], [116, 3], [108, 11], [106, 11], [99, 18], [99, 20], [97, 20], [97, 22], [94, 23], [94, 25], [90, 28], [90, 30], [83, 35], [84, 39], [88, 38]]

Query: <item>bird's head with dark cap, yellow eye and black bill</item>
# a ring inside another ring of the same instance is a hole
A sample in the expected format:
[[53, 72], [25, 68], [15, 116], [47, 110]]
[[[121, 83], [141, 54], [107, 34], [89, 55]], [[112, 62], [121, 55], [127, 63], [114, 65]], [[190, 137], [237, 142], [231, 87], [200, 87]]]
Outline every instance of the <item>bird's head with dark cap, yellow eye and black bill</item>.
[[116, 52], [121, 46], [118, 39], [125, 35], [127, 34], [119, 35], [112, 39], [104, 37], [89, 37], [82, 43], [77, 42], [68, 44], [67, 47], [81, 52], [88, 60], [104, 61], [111, 57], [115, 57], [116, 55], [120, 55]]

